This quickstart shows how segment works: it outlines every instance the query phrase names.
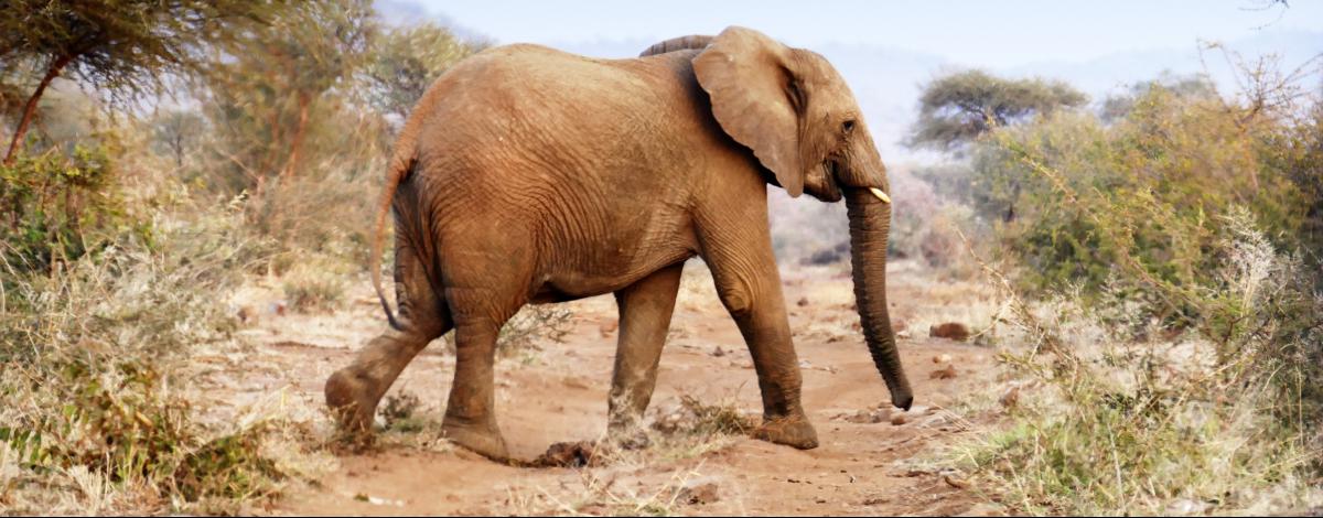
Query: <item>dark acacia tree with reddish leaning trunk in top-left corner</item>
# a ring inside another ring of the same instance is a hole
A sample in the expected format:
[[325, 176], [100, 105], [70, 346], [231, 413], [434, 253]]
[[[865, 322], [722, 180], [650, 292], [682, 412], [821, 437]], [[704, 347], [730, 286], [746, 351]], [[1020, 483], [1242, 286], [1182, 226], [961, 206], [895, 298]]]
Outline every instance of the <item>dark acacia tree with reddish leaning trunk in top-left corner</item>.
[[19, 110], [4, 164], [13, 163], [50, 83], [73, 75], [111, 99], [157, 91], [202, 48], [258, 21], [278, 0], [8, 0], [0, 7], [5, 75], [38, 78]]

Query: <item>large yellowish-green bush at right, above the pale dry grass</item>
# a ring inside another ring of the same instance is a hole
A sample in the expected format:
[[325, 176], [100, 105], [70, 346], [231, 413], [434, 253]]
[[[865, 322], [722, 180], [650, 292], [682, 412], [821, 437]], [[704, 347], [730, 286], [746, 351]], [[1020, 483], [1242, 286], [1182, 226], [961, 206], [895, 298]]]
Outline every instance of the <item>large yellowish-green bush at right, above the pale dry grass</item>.
[[1023, 285], [1078, 284], [1094, 296], [1130, 262], [1147, 278], [1129, 287], [1135, 296], [1163, 299], [1150, 316], [1188, 328], [1205, 311], [1195, 293], [1216, 283], [1207, 272], [1222, 259], [1213, 251], [1233, 207], [1248, 210], [1273, 246], [1310, 250], [1310, 229], [1323, 223], [1311, 209], [1323, 178], [1301, 168], [1323, 152], [1304, 145], [1308, 128], [1155, 86], [1110, 124], [1060, 114], [996, 130], [974, 160], [975, 206], [1000, 221]]

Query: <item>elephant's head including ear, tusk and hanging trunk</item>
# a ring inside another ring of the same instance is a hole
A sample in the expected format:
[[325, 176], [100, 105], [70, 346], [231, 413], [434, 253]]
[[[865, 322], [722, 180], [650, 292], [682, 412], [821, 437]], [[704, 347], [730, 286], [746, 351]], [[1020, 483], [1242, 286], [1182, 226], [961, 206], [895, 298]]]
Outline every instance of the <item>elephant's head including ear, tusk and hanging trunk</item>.
[[845, 198], [864, 338], [892, 403], [909, 408], [914, 398], [886, 307], [890, 186], [855, 95], [822, 56], [755, 30], [732, 26], [704, 44], [693, 70], [721, 128], [791, 197]]

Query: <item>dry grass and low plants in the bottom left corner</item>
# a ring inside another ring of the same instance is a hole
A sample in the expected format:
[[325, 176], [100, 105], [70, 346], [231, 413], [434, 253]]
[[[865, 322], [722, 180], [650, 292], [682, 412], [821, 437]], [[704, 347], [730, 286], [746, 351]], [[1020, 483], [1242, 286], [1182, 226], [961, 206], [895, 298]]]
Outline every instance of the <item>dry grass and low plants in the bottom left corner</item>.
[[188, 359], [243, 346], [224, 301], [254, 255], [237, 211], [181, 214], [157, 217], [149, 244], [126, 238], [49, 275], [5, 270], [7, 511], [235, 513], [308, 473], [284, 408], [216, 420], [193, 407]]

